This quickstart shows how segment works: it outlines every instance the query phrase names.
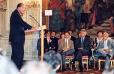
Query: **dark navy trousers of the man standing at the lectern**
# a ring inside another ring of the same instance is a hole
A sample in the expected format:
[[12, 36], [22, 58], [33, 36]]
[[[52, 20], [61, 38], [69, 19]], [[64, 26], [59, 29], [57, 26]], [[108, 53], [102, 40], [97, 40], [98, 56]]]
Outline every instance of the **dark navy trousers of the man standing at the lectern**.
[[11, 47], [12, 47], [11, 59], [15, 63], [17, 68], [21, 69], [24, 57], [24, 42], [12, 42]]

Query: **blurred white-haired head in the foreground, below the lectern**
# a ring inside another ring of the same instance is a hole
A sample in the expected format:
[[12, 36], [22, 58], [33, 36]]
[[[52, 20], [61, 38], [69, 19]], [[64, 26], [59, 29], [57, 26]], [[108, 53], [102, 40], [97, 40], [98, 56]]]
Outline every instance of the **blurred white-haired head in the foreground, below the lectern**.
[[46, 62], [29, 61], [21, 69], [20, 74], [56, 74]]

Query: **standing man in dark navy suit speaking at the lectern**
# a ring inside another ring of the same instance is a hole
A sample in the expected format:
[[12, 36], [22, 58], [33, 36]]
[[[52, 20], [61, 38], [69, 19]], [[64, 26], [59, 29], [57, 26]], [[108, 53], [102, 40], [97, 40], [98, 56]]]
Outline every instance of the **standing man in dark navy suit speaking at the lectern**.
[[14, 61], [18, 69], [20, 69], [23, 64], [25, 42], [24, 31], [32, 28], [32, 26], [23, 21], [21, 17], [24, 14], [24, 11], [24, 4], [19, 3], [17, 9], [12, 12], [10, 17], [9, 42], [12, 47], [11, 59]]

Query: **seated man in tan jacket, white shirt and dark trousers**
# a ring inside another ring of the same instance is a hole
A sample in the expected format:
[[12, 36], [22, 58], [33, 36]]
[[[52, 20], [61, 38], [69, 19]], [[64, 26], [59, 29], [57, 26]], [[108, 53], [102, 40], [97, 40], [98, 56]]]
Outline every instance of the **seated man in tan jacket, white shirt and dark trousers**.
[[70, 40], [70, 34], [65, 32], [65, 38], [59, 41], [59, 51], [62, 54], [62, 69], [65, 70], [65, 57], [67, 55], [74, 54], [74, 44], [73, 41]]

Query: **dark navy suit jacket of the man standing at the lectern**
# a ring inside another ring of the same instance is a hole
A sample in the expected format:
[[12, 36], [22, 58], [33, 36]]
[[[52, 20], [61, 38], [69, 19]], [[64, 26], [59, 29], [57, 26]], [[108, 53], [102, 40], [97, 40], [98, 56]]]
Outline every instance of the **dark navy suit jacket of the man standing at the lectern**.
[[18, 10], [15, 10], [10, 17], [10, 42], [24, 42], [25, 41], [25, 30], [31, 29], [32, 27], [28, 25], [19, 14]]

